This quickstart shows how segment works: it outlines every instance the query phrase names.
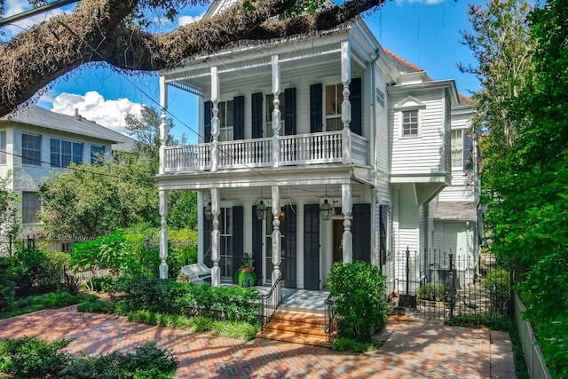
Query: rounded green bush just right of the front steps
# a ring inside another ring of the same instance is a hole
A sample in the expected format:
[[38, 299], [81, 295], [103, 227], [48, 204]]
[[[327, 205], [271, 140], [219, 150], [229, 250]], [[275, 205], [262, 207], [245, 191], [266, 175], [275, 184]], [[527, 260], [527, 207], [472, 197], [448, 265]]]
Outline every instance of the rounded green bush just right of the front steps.
[[388, 312], [384, 280], [378, 267], [366, 262], [336, 262], [331, 267], [327, 285], [334, 296], [340, 330], [368, 341], [375, 329], [383, 328]]

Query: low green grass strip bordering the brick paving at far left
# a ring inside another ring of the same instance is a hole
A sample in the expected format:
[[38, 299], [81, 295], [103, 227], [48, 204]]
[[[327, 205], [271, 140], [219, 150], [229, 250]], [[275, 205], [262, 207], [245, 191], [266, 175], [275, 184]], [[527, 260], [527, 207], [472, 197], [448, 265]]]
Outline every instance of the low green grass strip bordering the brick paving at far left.
[[42, 311], [43, 309], [63, 308], [68, 305], [79, 304], [92, 299], [92, 295], [83, 293], [71, 295], [67, 291], [57, 291], [45, 295], [28, 296], [13, 302], [10, 311], [0, 312], [0, 319], [8, 319], [10, 317], [20, 316], [21, 314]]

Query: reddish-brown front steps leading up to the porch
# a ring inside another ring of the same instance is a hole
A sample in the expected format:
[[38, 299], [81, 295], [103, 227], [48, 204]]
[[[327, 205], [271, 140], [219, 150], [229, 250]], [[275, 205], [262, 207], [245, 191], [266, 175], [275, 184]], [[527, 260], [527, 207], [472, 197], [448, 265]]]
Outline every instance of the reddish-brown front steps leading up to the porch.
[[256, 336], [276, 341], [329, 347], [323, 314], [277, 311]]

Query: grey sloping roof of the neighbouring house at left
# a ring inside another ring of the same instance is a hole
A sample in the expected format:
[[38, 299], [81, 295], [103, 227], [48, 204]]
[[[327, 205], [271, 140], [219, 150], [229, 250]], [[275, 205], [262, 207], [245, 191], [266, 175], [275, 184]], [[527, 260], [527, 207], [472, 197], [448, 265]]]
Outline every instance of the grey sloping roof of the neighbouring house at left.
[[104, 141], [125, 144], [121, 146], [120, 150], [128, 149], [128, 146], [134, 144], [134, 139], [124, 136], [114, 130], [110, 130], [97, 122], [87, 120], [80, 115], [71, 116], [67, 114], [58, 114], [51, 112], [43, 107], [38, 107], [35, 104], [28, 106], [17, 111], [15, 114], [8, 114], [2, 117], [0, 122], [20, 122], [28, 125], [36, 125], [42, 128], [59, 130], [77, 136], [85, 136], [97, 138]]

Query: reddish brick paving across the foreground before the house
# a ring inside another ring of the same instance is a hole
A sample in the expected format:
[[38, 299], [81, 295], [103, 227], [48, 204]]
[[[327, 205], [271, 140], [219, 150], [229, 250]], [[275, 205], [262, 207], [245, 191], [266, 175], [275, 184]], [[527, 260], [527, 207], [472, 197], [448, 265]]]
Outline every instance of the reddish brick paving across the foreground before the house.
[[0, 320], [0, 339], [36, 335], [73, 338], [70, 351], [125, 351], [154, 340], [180, 362], [177, 378], [485, 378], [490, 377], [489, 331], [448, 328], [439, 321], [390, 321], [379, 351], [363, 355], [257, 338], [231, 338], [130, 323], [75, 312], [75, 307]]

